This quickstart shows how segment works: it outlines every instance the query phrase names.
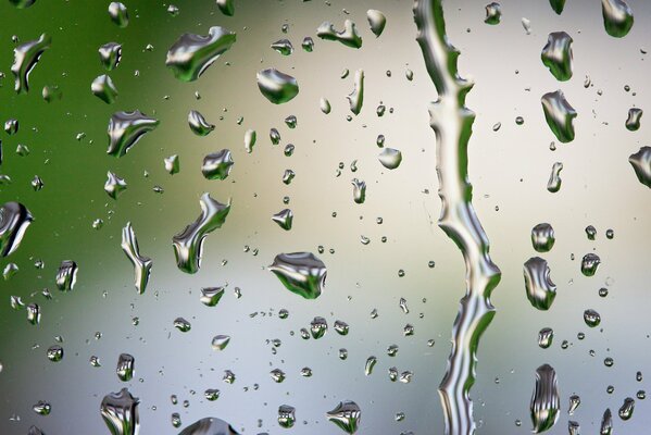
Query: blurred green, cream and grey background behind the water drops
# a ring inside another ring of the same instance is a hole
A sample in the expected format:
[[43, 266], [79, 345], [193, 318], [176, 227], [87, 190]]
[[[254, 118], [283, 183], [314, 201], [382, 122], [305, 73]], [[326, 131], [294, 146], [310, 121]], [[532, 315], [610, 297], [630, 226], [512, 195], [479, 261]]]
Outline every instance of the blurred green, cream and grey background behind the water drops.
[[[110, 21], [108, 3], [39, 0], [26, 10], [0, 3], [0, 71], [5, 75], [0, 82], [0, 120], [16, 117], [21, 123], [17, 135], [2, 133], [5, 158], [0, 173], [12, 183], [0, 186], [0, 200], [21, 201], [35, 216], [17, 251], [0, 261], [2, 268], [8, 262], [20, 266], [17, 275], [0, 282], [0, 433], [25, 434], [32, 424], [47, 434], [108, 433], [99, 406], [105, 394], [123, 386], [141, 400], [142, 434], [177, 433], [171, 424], [173, 412], [180, 413], [184, 426], [218, 417], [247, 434], [280, 433], [285, 430], [277, 425], [277, 408], [285, 403], [297, 409], [297, 424], [289, 432], [338, 434], [325, 412], [340, 400], [361, 407], [361, 434], [442, 433], [437, 386], [465, 291], [465, 272], [460, 252], [436, 223], [440, 201], [427, 113], [436, 89], [415, 41], [412, 2], [236, 0], [235, 16], [227, 17], [213, 0], [178, 0], [180, 14], [172, 17], [166, 3], [130, 0], [125, 2], [130, 23], [124, 29]], [[628, 109], [644, 109], [651, 91], [649, 59], [640, 52], [651, 35], [651, 3], [629, 0], [636, 23], [623, 39], [605, 33], [598, 0], [568, 0], [561, 16], [542, 0], [501, 3], [498, 26], [484, 24], [485, 2], [445, 4], [450, 39], [462, 52], [460, 72], [476, 82], [467, 98], [477, 114], [470, 177], [493, 260], [503, 272], [492, 298], [498, 312], [480, 343], [472, 391], [478, 433], [529, 433], [528, 403], [535, 370], [542, 363], [555, 368], [562, 396], [562, 415], [550, 433], [566, 433], [572, 394], [581, 397], [573, 420], [583, 433], [597, 433], [606, 407], [613, 409], [617, 434], [644, 433], [651, 425], [648, 400], [637, 402], [628, 422], [616, 418], [616, 409], [625, 397], [648, 389], [648, 380], [636, 382], [636, 372], [646, 373], [651, 363], [651, 201], [627, 161], [648, 145], [649, 127], [644, 116], [637, 133], [624, 127]], [[387, 15], [379, 38], [367, 26], [367, 9]], [[523, 29], [523, 17], [531, 21], [530, 35]], [[345, 18], [358, 25], [360, 50], [316, 37], [322, 22], [342, 28]], [[287, 35], [281, 33], [284, 24], [289, 26]], [[167, 48], [183, 33], [205, 35], [214, 25], [236, 32], [237, 42], [197, 82], [177, 80], [164, 64]], [[574, 77], [562, 84], [540, 61], [548, 34], [556, 30], [574, 39]], [[29, 94], [16, 96], [10, 72], [12, 35], [27, 41], [43, 32], [52, 36], [52, 47], [30, 75]], [[304, 36], [314, 38], [314, 52], [300, 48]], [[285, 37], [295, 46], [290, 57], [270, 48]], [[111, 40], [123, 44], [123, 61], [109, 73], [120, 91], [109, 105], [92, 96], [90, 83], [104, 73], [97, 49]], [[145, 50], [148, 44], [152, 51]], [[283, 105], [270, 103], [255, 83], [255, 73], [266, 67], [296, 76], [298, 97]], [[341, 79], [343, 69], [351, 74]], [[348, 122], [346, 96], [359, 69], [366, 75], [364, 108]], [[413, 82], [405, 78], [406, 69], [414, 72]], [[592, 83], [588, 88], [586, 76]], [[58, 85], [63, 98], [43, 101], [45, 85]], [[551, 151], [554, 137], [540, 97], [556, 89], [565, 92], [578, 117], [576, 139]], [[321, 97], [333, 104], [329, 115], [320, 111]], [[380, 102], [392, 113], [387, 110], [378, 117], [375, 109]], [[160, 126], [127, 156], [107, 156], [109, 117], [134, 109], [158, 117]], [[191, 109], [216, 124], [208, 137], [188, 128]], [[296, 129], [284, 124], [290, 114], [298, 117]], [[524, 117], [524, 125], [515, 124], [516, 116]], [[493, 132], [498, 122], [502, 126]], [[268, 140], [274, 126], [283, 137], [280, 146]], [[251, 154], [243, 147], [248, 128], [258, 132]], [[76, 140], [79, 133], [85, 138]], [[377, 161], [378, 134], [386, 136], [386, 146], [402, 151], [399, 169], [388, 171]], [[290, 158], [283, 154], [288, 142], [296, 145]], [[18, 144], [27, 145], [30, 154], [14, 153]], [[203, 156], [223, 148], [233, 151], [230, 177], [204, 179]], [[163, 158], [175, 153], [180, 156], [180, 173], [171, 176]], [[352, 173], [355, 160], [358, 170]], [[550, 194], [546, 186], [556, 161], [565, 167], [563, 186]], [[345, 169], [337, 177], [340, 162]], [[286, 169], [297, 174], [289, 186], [281, 183]], [[128, 183], [116, 201], [103, 191], [109, 170]], [[29, 186], [35, 174], [45, 182], [38, 192]], [[364, 204], [353, 202], [353, 177], [368, 186]], [[154, 194], [154, 185], [164, 194]], [[208, 236], [200, 272], [186, 275], [176, 268], [172, 236], [198, 216], [204, 191], [222, 202], [231, 198], [233, 208], [223, 228]], [[290, 232], [270, 219], [285, 208], [285, 196], [295, 213]], [[104, 220], [100, 231], [91, 227], [95, 219]], [[120, 247], [121, 231], [129, 221], [142, 254], [154, 262], [145, 295], [136, 294], [133, 268]], [[530, 228], [540, 222], [551, 223], [556, 233], [556, 245], [544, 254], [558, 285], [548, 312], [529, 304], [522, 274], [523, 263], [536, 254]], [[598, 229], [594, 241], [584, 232], [589, 224]], [[614, 239], [605, 238], [606, 228], [614, 229]], [[360, 243], [362, 235], [370, 245]], [[323, 254], [318, 246], [325, 248]], [[293, 251], [315, 252], [327, 265], [321, 298], [303, 300], [265, 269], [277, 253]], [[592, 251], [602, 264], [596, 276], [585, 277], [580, 259]], [[37, 259], [45, 269], [34, 266]], [[79, 273], [74, 290], [63, 294], [54, 277], [66, 259], [79, 264]], [[428, 268], [428, 261], [436, 266]], [[403, 277], [399, 270], [404, 270]], [[223, 285], [227, 291], [218, 306], [199, 302], [201, 287]], [[600, 298], [598, 289], [604, 286], [610, 295]], [[45, 287], [53, 300], [40, 295]], [[235, 287], [241, 288], [240, 299], [234, 296]], [[28, 324], [24, 310], [13, 311], [10, 295], [39, 303], [40, 325]], [[400, 298], [406, 299], [409, 314], [400, 309]], [[283, 308], [290, 313], [286, 320], [277, 315]], [[601, 313], [599, 328], [585, 325], [583, 312], [588, 308]], [[373, 309], [377, 319], [370, 315]], [[320, 340], [303, 340], [298, 332], [315, 315], [325, 318], [330, 331]], [[177, 316], [191, 322], [189, 333], [173, 327]], [[134, 318], [139, 319], [137, 326]], [[331, 330], [335, 320], [350, 324], [348, 336]], [[406, 323], [415, 327], [411, 337], [402, 334]], [[547, 350], [537, 345], [544, 326], [555, 331]], [[95, 338], [97, 332], [100, 339]], [[583, 340], [577, 338], [580, 332], [586, 334]], [[211, 348], [216, 334], [231, 336], [224, 351]], [[64, 339], [65, 357], [59, 363], [46, 358], [55, 336]], [[270, 340], [275, 338], [281, 346], [273, 353]], [[429, 339], [436, 340], [431, 348]], [[563, 340], [568, 341], [566, 349], [561, 348]], [[400, 350], [391, 358], [386, 349], [393, 344]], [[346, 361], [338, 358], [340, 348], [348, 349]], [[121, 352], [136, 358], [136, 376], [128, 384], [115, 375]], [[372, 355], [378, 363], [365, 376], [364, 362]], [[101, 368], [89, 364], [91, 356], [100, 358]], [[614, 358], [612, 368], [604, 365], [606, 357]], [[300, 376], [304, 366], [313, 370], [312, 377]], [[413, 371], [412, 382], [391, 383], [391, 366]], [[275, 368], [287, 374], [281, 384], [268, 375]], [[223, 383], [224, 370], [236, 374], [235, 384]], [[614, 386], [610, 395], [609, 385]], [[221, 398], [206, 401], [205, 388], [221, 389]], [[178, 396], [179, 405], [171, 402], [171, 395]], [[180, 405], [186, 399], [188, 408]], [[52, 405], [49, 417], [32, 410], [38, 400]], [[395, 421], [398, 412], [405, 413], [404, 421]]]

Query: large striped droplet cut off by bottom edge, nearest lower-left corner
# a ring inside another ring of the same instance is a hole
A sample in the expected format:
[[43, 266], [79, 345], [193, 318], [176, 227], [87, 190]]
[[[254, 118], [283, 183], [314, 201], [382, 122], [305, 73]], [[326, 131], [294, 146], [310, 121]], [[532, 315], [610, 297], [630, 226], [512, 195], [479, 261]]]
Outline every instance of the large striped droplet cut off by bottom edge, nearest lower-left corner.
[[127, 388], [110, 393], [102, 399], [100, 412], [112, 435], [138, 435], [138, 403]]

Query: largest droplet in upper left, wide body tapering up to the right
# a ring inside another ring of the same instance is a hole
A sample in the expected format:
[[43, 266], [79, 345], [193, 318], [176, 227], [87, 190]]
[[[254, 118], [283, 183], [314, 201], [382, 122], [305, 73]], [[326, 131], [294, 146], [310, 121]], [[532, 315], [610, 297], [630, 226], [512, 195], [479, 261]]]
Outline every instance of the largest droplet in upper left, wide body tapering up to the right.
[[214, 26], [208, 36], [183, 34], [170, 47], [165, 65], [183, 82], [193, 82], [236, 41], [235, 33]]

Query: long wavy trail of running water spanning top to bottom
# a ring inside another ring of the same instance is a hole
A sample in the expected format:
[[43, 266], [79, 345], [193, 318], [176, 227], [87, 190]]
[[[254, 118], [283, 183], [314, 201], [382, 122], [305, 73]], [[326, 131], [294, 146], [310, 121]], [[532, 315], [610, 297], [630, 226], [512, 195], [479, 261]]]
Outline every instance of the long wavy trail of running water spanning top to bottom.
[[475, 383], [477, 346], [494, 315], [489, 297], [501, 272], [490, 259], [488, 237], [471, 202], [467, 144], [475, 114], [465, 107], [465, 96], [473, 84], [458, 74], [459, 51], [448, 41], [441, 0], [416, 0], [414, 20], [418, 28], [416, 39], [439, 95], [429, 105], [430, 126], [437, 136], [439, 226], [454, 240], [466, 265], [466, 294], [452, 328], [452, 350], [439, 394], [446, 434], [470, 435], [475, 432], [470, 389]]

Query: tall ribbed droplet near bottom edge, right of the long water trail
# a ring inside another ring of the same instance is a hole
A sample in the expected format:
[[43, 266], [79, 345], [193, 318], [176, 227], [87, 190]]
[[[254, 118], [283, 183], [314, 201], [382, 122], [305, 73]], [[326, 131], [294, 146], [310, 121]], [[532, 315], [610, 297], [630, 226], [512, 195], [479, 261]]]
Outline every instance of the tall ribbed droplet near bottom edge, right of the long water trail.
[[556, 423], [560, 405], [556, 372], [549, 364], [540, 365], [536, 370], [536, 387], [530, 406], [535, 434], [548, 431]]

